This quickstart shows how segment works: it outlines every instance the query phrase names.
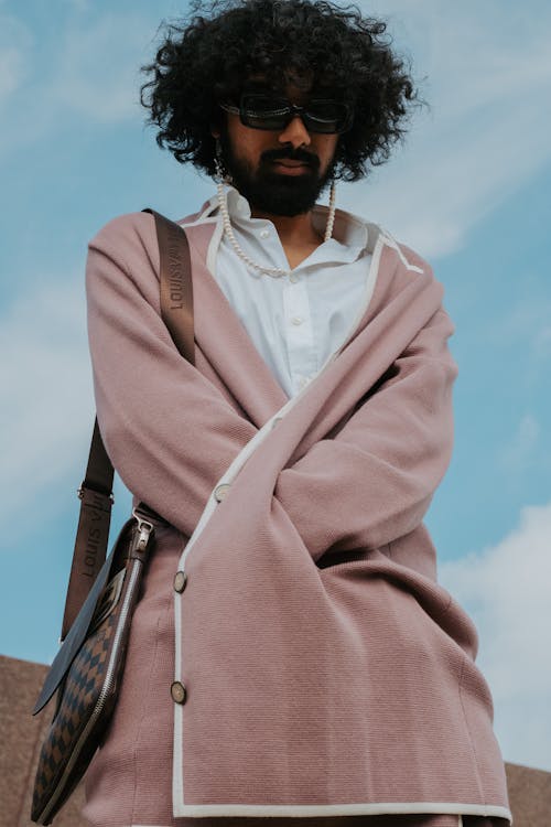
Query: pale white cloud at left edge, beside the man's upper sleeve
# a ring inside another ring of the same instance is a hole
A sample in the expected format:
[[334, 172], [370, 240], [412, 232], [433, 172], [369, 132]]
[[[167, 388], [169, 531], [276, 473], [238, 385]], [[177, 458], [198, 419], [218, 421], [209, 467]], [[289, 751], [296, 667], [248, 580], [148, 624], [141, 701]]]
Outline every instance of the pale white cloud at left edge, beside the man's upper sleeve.
[[[42, 508], [46, 501], [52, 505], [68, 472], [84, 472], [82, 449], [95, 408], [82, 278], [21, 294], [2, 319], [0, 352], [0, 384], [7, 389], [0, 408], [0, 514], [9, 529], [29, 508], [37, 517], [41, 502]], [[76, 488], [80, 479], [74, 482]]]

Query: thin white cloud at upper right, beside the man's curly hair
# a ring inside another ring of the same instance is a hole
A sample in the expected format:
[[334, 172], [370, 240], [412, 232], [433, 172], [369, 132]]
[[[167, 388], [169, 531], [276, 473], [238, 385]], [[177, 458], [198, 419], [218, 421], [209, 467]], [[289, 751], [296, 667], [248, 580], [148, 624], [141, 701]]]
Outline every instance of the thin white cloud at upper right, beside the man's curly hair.
[[367, 182], [342, 185], [343, 206], [380, 221], [429, 257], [460, 248], [469, 229], [551, 161], [551, 8], [526, 14], [497, 0], [413, 6], [388, 0], [432, 106], [406, 147]]

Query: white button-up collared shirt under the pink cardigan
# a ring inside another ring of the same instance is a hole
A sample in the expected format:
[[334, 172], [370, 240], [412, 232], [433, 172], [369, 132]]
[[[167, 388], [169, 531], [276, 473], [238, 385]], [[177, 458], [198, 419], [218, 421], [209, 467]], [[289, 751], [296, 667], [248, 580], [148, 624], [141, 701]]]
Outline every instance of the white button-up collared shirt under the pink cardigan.
[[[241, 249], [259, 265], [289, 270], [272, 222], [251, 218], [248, 201], [227, 189], [228, 213]], [[217, 196], [202, 217], [218, 214]], [[314, 208], [322, 234], [325, 214]], [[215, 258], [215, 278], [250, 339], [289, 397], [321, 369], [344, 341], [371, 261], [366, 223], [349, 213], [335, 221], [333, 237], [321, 244], [289, 276], [274, 278], [249, 268], [224, 234]]]

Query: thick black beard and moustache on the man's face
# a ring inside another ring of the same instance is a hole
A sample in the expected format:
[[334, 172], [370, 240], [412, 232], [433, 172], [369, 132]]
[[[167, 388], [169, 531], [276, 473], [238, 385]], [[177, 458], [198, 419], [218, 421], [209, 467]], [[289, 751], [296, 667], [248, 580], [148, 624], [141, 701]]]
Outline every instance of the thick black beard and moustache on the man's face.
[[[293, 217], [310, 212], [333, 176], [335, 159], [320, 174], [320, 159], [305, 149], [267, 150], [258, 168], [238, 158], [229, 142], [227, 130], [220, 133], [222, 160], [231, 183], [255, 210], [271, 215]], [[273, 161], [289, 159], [307, 164], [307, 171], [289, 175], [277, 171]]]

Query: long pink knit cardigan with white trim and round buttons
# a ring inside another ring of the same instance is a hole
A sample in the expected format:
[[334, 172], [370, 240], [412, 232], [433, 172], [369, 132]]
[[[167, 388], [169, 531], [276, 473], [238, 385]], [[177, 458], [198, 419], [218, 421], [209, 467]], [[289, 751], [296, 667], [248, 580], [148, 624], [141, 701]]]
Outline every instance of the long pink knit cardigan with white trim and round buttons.
[[170, 525], [85, 815], [510, 820], [477, 632], [439, 584], [422, 522], [453, 443], [442, 284], [368, 225], [356, 319], [289, 399], [206, 267], [219, 223], [195, 218], [181, 222], [195, 366], [160, 318], [152, 216], [115, 218], [89, 245], [101, 433]]

